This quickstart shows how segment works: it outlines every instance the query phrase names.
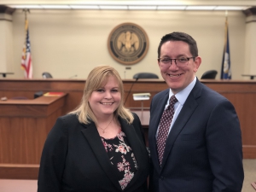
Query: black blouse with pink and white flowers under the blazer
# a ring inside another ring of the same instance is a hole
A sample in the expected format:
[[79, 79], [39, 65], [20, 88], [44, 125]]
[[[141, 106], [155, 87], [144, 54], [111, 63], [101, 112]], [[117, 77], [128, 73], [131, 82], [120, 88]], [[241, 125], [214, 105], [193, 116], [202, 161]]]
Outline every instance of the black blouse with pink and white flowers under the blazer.
[[118, 170], [119, 184], [124, 190], [137, 172], [137, 161], [125, 133], [120, 130], [116, 137], [110, 139], [101, 138], [111, 164]]

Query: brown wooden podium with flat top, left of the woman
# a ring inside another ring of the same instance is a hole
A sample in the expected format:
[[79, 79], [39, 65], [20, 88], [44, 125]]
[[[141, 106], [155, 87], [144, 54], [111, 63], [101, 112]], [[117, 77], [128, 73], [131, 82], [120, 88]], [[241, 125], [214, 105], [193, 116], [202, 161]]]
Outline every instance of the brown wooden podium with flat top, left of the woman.
[[38, 178], [45, 139], [66, 96], [0, 101], [0, 178]]

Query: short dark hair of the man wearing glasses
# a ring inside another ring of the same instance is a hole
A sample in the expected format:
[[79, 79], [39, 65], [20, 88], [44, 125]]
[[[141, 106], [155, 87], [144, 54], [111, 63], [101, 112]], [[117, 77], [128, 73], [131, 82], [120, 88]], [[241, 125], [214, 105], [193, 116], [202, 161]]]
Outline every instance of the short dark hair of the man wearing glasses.
[[167, 41], [183, 41], [189, 44], [190, 53], [193, 56], [198, 56], [197, 44], [194, 38], [192, 38], [189, 34], [184, 32], [172, 32], [172, 33], [166, 34], [164, 37], [161, 38], [161, 41], [157, 50], [158, 58], [160, 58], [160, 50], [162, 45], [165, 44]]

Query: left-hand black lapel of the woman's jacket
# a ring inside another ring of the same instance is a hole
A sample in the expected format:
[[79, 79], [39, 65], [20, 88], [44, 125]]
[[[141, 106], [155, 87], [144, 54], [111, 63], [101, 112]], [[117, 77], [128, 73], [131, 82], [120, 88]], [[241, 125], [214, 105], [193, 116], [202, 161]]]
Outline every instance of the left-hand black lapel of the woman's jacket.
[[115, 174], [113, 172], [113, 166], [110, 163], [108, 154], [106, 153], [106, 150], [102, 144], [102, 139], [99, 136], [98, 131], [96, 130], [96, 125], [94, 123], [91, 123], [90, 125], [84, 126], [86, 128], [82, 130], [82, 133], [90, 144], [90, 148], [96, 155], [96, 159], [98, 160], [100, 166], [102, 166], [102, 169], [108, 175], [109, 179], [116, 186], [116, 188], [122, 190], [119, 185], [118, 178], [115, 177]]

